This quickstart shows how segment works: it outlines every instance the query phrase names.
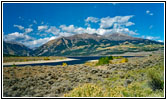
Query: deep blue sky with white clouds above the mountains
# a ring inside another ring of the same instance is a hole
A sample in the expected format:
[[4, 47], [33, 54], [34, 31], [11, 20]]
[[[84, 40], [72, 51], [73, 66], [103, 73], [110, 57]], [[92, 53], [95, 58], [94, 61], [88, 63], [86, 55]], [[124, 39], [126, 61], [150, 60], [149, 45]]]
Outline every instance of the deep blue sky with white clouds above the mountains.
[[164, 41], [163, 3], [4, 3], [3, 39], [33, 48], [81, 33]]

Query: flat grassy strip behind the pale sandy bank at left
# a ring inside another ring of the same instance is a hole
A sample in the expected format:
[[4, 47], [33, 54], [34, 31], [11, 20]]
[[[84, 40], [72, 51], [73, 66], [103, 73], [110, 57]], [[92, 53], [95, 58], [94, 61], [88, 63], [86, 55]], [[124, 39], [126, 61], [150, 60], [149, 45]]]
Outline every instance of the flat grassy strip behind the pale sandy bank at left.
[[57, 60], [66, 59], [66, 57], [3, 57], [3, 62], [26, 62], [26, 61], [39, 61], [39, 60]]

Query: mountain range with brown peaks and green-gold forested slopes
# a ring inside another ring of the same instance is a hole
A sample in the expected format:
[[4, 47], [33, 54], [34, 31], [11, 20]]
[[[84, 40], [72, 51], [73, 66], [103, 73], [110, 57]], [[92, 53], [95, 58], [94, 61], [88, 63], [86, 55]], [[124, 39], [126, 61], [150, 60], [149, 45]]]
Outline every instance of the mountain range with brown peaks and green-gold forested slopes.
[[22, 44], [5, 42], [4, 54], [31, 56], [101, 56], [125, 52], [153, 51], [163, 43], [136, 38], [123, 33], [108, 35], [76, 34], [51, 40], [31, 50]]

